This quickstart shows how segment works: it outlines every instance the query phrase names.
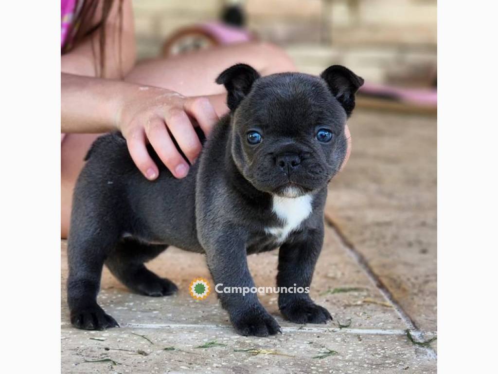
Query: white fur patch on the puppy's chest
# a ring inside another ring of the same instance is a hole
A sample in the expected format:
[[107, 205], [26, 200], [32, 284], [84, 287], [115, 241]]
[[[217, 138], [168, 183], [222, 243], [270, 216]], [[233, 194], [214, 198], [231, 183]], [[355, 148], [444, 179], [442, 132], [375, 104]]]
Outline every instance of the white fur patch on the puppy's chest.
[[266, 227], [264, 231], [275, 236], [277, 241], [283, 242], [310, 215], [312, 200], [311, 195], [299, 197], [273, 196], [272, 210], [283, 221], [283, 226]]

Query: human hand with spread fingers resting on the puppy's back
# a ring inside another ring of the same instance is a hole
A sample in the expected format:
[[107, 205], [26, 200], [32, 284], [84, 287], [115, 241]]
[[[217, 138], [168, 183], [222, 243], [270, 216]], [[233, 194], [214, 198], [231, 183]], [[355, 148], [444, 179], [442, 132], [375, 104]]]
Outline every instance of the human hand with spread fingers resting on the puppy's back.
[[202, 145], [192, 120], [206, 136], [210, 133], [219, 118], [208, 98], [184, 97], [174, 91], [146, 86], [124, 94], [116, 126], [126, 139], [131, 159], [145, 178], [152, 181], [159, 171], [147, 152], [147, 142], [174, 177], [187, 175], [189, 165], [172, 137], [193, 164]]

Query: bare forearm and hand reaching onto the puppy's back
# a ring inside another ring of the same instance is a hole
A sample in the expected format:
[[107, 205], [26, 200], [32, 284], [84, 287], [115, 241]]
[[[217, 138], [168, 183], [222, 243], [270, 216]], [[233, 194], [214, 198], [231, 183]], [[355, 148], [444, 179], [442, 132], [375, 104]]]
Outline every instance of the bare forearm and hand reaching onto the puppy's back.
[[133, 162], [150, 180], [157, 178], [158, 169], [146, 150], [147, 142], [171, 173], [182, 178], [189, 165], [170, 134], [193, 163], [201, 150], [194, 124], [207, 135], [217, 121], [205, 97], [186, 98], [164, 88], [61, 73], [61, 131], [121, 131]]

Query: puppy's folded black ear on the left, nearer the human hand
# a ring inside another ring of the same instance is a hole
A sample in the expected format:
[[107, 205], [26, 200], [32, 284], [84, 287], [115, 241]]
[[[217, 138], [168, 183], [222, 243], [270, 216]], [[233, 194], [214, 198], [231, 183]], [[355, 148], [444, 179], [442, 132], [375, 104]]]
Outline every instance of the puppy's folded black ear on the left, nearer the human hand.
[[227, 105], [230, 110], [237, 108], [249, 93], [252, 83], [259, 77], [259, 73], [249, 65], [237, 64], [229, 67], [216, 78], [216, 83], [223, 84], [228, 91]]

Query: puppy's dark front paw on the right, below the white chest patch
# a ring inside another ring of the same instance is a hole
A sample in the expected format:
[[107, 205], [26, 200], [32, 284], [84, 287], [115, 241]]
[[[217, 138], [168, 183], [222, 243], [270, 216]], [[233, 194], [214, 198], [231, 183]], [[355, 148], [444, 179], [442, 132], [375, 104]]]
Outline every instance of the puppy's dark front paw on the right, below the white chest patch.
[[282, 315], [295, 323], [327, 323], [332, 319], [329, 311], [313, 301], [295, 299], [280, 308]]

